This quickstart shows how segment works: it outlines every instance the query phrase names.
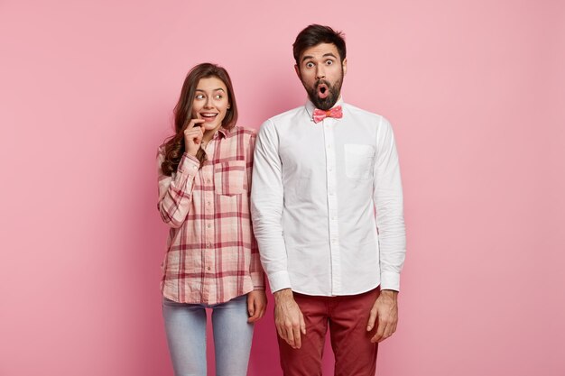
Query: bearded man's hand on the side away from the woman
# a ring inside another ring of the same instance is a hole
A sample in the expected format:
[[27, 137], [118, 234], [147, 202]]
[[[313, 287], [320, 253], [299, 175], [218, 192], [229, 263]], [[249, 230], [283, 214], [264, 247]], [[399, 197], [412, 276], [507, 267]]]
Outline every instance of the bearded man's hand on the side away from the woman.
[[396, 324], [398, 324], [397, 296], [398, 291], [384, 289], [376, 298], [366, 326], [366, 331], [370, 332], [375, 326], [375, 319], [378, 319], [376, 333], [371, 338], [372, 343], [383, 342], [396, 331]]

